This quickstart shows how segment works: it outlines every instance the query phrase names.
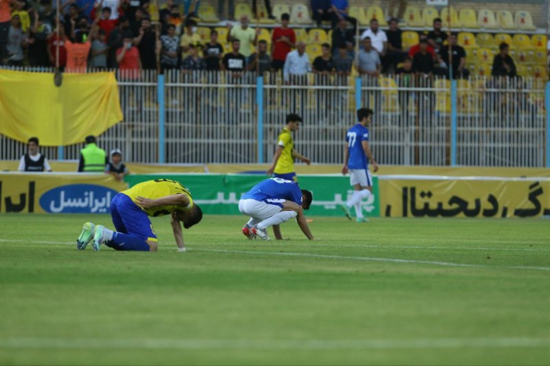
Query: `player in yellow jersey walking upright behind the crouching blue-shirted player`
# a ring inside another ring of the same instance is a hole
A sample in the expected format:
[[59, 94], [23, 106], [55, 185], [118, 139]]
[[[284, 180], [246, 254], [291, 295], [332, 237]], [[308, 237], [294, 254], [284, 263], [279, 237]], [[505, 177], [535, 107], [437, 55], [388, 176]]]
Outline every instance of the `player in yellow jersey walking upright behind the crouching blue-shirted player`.
[[287, 179], [288, 181], [298, 182], [296, 172], [294, 172], [294, 158], [298, 158], [307, 165], [311, 163], [307, 157], [304, 157], [294, 148], [292, 141], [292, 133], [300, 128], [302, 117], [295, 113], [287, 115], [287, 126], [281, 131], [281, 135], [277, 140], [277, 150], [273, 155], [273, 163], [267, 170], [267, 175], [275, 176], [276, 178]]

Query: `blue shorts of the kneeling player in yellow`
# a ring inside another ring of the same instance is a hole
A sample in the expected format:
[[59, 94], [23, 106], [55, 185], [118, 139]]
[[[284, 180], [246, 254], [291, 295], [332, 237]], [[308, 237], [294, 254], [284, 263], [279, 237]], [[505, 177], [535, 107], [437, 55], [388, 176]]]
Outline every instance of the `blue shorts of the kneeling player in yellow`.
[[149, 216], [126, 194], [119, 193], [114, 196], [111, 201], [111, 218], [119, 233], [132, 234], [143, 240], [157, 241]]

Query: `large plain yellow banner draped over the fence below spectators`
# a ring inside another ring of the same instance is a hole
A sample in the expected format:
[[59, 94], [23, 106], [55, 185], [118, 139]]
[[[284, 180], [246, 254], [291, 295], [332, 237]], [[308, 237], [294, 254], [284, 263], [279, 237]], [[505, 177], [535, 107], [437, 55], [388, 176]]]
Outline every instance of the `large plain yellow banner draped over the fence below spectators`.
[[82, 143], [122, 121], [114, 73], [53, 73], [0, 69], [0, 133], [17, 141], [39, 137], [43, 146]]

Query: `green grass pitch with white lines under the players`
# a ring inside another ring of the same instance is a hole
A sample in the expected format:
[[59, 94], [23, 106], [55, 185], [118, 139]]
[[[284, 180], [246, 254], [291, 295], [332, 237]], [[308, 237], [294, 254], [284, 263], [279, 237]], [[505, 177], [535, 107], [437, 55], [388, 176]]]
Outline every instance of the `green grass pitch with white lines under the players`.
[[0, 364], [549, 364], [548, 220], [314, 218], [177, 253], [77, 251], [85, 220], [0, 216]]

